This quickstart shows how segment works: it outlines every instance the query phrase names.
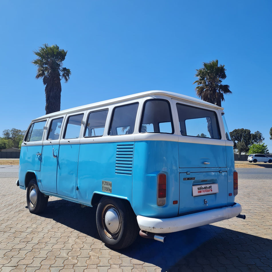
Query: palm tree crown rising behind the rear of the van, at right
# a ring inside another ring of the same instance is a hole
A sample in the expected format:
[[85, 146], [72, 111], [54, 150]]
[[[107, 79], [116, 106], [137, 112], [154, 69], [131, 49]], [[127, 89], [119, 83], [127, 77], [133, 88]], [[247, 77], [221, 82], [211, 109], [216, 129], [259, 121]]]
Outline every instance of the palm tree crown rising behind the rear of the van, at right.
[[224, 65], [218, 66], [218, 60], [203, 62], [203, 67], [196, 69], [197, 84], [196, 95], [202, 100], [210, 102], [221, 107], [221, 101], [224, 101], [224, 94], [231, 94], [230, 86], [221, 84], [226, 76]]

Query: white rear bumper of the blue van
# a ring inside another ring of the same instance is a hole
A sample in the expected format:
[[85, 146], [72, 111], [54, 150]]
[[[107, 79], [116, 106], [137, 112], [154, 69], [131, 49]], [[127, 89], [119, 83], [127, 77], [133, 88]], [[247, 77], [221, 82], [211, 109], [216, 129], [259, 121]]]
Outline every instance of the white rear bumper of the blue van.
[[170, 233], [204, 226], [239, 215], [242, 206], [234, 203], [231, 207], [219, 208], [174, 218], [149, 218], [138, 215], [137, 222], [141, 230], [153, 233]]

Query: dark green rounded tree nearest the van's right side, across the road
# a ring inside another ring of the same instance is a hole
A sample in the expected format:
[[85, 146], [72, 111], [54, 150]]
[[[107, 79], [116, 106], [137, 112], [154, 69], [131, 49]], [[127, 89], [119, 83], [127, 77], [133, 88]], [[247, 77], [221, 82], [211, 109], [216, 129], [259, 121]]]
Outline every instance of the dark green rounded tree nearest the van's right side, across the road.
[[249, 150], [249, 145], [251, 145], [251, 133], [249, 129], [234, 129], [230, 132], [230, 137], [234, 144], [233, 148], [238, 150], [239, 155]]

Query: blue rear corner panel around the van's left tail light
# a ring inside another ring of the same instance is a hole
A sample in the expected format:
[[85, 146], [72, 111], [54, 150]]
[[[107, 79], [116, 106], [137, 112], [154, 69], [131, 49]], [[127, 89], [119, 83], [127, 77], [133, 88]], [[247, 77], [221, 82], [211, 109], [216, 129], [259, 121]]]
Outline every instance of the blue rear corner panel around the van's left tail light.
[[[157, 174], [165, 173], [167, 197], [157, 205]], [[178, 143], [174, 141], [137, 141], [133, 167], [133, 210], [136, 215], [167, 218], [178, 215]]]

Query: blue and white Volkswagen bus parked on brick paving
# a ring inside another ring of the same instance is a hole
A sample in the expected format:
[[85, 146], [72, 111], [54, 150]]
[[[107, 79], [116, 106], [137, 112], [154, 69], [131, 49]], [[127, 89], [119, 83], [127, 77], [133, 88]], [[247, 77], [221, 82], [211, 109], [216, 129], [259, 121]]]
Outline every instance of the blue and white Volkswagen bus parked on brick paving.
[[17, 185], [31, 213], [49, 196], [97, 206], [99, 235], [113, 249], [139, 231], [163, 241], [163, 233], [243, 217], [223, 108], [164, 91], [34, 119]]

